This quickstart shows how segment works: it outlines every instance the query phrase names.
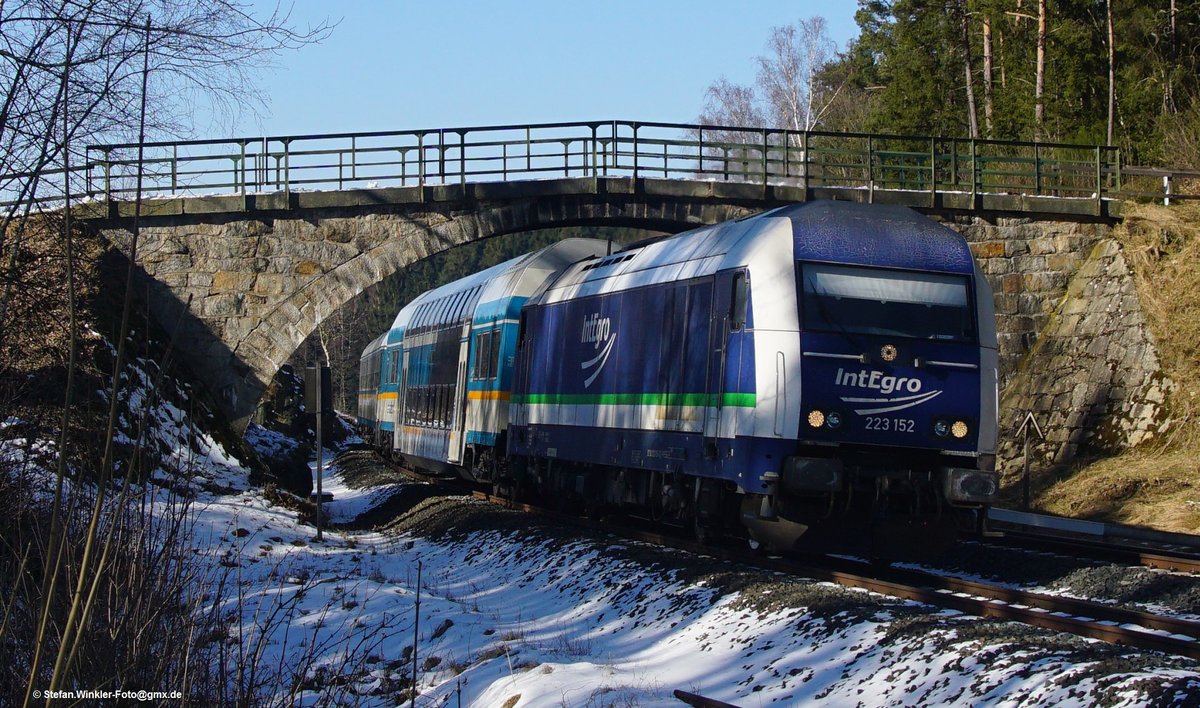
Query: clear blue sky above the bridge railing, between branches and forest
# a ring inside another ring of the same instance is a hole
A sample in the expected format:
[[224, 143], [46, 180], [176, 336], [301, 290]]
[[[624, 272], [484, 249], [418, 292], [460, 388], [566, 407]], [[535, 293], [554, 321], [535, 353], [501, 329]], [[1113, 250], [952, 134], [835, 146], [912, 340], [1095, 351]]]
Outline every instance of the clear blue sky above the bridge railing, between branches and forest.
[[262, 72], [262, 115], [212, 131], [690, 122], [713, 80], [754, 80], [772, 26], [820, 14], [844, 48], [857, 34], [856, 8], [852, 0], [295, 0], [296, 24], [340, 25]]

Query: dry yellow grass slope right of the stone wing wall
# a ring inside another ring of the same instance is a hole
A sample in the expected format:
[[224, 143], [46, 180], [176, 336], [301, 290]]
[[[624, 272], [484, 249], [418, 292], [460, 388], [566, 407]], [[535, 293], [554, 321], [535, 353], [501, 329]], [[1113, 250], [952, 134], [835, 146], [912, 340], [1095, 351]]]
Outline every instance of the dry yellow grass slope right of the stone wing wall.
[[1200, 205], [1126, 205], [1124, 247], [1158, 348], [1177, 384], [1163, 438], [1081, 466], [1037, 505], [1054, 514], [1200, 533]]

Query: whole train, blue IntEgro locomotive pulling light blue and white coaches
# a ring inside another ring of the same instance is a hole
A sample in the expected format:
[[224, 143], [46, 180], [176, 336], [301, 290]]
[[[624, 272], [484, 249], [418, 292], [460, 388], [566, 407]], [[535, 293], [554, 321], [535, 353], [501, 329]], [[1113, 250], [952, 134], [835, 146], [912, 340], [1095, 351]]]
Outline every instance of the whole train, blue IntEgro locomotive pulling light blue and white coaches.
[[997, 401], [964, 238], [814, 200], [428, 290], [364, 350], [358, 420], [510, 498], [889, 558], [983, 530]]

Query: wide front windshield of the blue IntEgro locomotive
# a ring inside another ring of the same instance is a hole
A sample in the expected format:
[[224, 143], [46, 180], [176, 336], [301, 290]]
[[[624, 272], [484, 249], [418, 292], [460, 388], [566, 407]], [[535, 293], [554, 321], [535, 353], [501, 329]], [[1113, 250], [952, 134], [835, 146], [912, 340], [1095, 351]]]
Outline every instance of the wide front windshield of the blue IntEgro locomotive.
[[965, 276], [803, 263], [800, 280], [805, 330], [976, 338]]

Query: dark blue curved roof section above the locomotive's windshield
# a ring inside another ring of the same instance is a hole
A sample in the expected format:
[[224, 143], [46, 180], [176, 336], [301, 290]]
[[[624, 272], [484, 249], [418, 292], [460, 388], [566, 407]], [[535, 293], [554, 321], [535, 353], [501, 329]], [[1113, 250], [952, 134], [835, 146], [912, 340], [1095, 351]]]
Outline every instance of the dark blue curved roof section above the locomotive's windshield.
[[768, 211], [792, 221], [797, 260], [965, 272], [974, 270], [962, 236], [907, 206], [808, 202]]

